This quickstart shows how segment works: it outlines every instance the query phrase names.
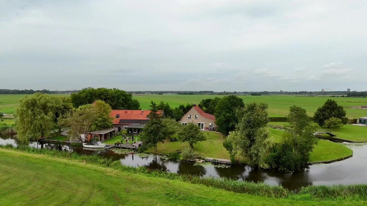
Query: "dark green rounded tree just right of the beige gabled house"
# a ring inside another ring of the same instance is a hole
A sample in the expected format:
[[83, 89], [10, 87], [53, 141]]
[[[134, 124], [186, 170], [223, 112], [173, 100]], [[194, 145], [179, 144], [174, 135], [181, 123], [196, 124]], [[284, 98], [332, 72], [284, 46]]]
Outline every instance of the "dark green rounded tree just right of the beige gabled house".
[[225, 96], [219, 100], [215, 107], [215, 124], [219, 132], [228, 135], [230, 131], [235, 130], [238, 122], [236, 110], [244, 105], [243, 100], [236, 95]]

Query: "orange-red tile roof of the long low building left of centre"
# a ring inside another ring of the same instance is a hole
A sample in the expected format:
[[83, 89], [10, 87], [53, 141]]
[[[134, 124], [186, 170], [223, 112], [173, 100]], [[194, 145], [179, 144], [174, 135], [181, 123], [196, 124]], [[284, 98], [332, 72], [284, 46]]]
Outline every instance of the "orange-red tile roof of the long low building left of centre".
[[[113, 117], [113, 124], [119, 124], [120, 119], [149, 119], [146, 118], [150, 113], [150, 110], [112, 110], [110, 117]], [[162, 113], [161, 110], [158, 111]], [[119, 118], [116, 115], [119, 114]]]

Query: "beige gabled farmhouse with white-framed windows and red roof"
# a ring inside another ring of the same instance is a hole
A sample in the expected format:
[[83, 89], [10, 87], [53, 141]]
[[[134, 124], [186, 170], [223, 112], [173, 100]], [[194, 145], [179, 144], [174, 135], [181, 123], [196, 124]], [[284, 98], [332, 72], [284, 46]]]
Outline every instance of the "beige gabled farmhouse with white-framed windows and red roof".
[[205, 113], [199, 106], [194, 106], [180, 120], [180, 123], [186, 125], [188, 122], [197, 123], [201, 130], [215, 130], [215, 116]]

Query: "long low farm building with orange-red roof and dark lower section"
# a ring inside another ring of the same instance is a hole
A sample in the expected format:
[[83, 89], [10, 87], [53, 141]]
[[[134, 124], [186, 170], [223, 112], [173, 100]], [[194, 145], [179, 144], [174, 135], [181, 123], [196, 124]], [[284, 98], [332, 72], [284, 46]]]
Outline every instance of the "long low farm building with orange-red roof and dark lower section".
[[[113, 118], [113, 126], [121, 129], [131, 129], [133, 133], [138, 133], [149, 121], [150, 110], [112, 110], [110, 117]], [[159, 114], [164, 115], [162, 110]]]

